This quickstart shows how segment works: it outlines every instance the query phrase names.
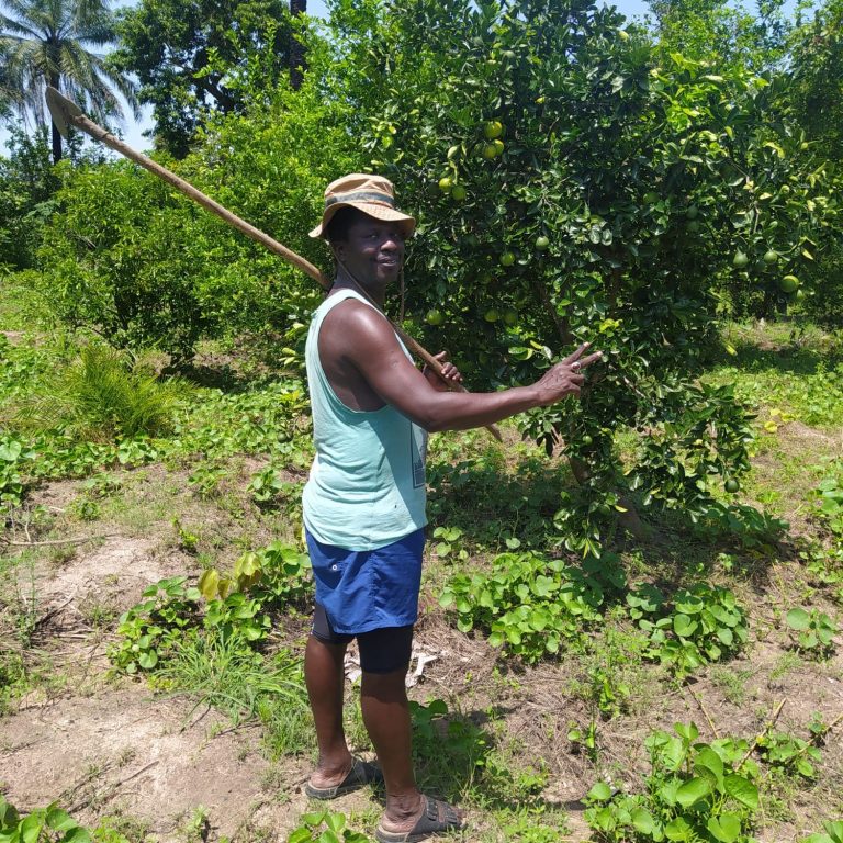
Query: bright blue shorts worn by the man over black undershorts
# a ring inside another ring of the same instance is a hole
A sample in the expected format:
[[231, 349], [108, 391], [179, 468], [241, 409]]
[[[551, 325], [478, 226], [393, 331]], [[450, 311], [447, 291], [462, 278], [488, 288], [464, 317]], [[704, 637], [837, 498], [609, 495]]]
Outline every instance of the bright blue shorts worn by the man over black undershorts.
[[357, 636], [408, 627], [418, 617], [424, 529], [375, 550], [323, 544], [305, 530], [316, 583], [316, 603], [335, 632]]

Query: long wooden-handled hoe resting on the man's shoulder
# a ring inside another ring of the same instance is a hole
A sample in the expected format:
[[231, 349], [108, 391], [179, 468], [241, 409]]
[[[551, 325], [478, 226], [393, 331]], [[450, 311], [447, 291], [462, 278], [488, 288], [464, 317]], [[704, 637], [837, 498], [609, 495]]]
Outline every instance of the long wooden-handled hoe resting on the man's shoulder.
[[[259, 228], [256, 228], [250, 223], [247, 223], [245, 220], [237, 216], [237, 214], [232, 213], [227, 207], [224, 207], [218, 202], [215, 202], [213, 199], [211, 199], [211, 196], [205, 195], [201, 190], [198, 190], [190, 182], [184, 181], [184, 179], [179, 178], [175, 172], [171, 172], [166, 167], [161, 167], [160, 164], [154, 161], [148, 156], [144, 155], [143, 153], [138, 153], [136, 149], [133, 149], [131, 146], [124, 144], [119, 137], [112, 135], [102, 126], [87, 117], [75, 102], [71, 102], [66, 97], [63, 97], [52, 86], [47, 86], [46, 98], [47, 108], [49, 109], [53, 122], [56, 124], [56, 128], [58, 128], [63, 135], [67, 136], [68, 125], [76, 126], [87, 135], [90, 135], [94, 140], [99, 140], [110, 149], [120, 153], [122, 156], [139, 165], [145, 170], [149, 170], [149, 172], [155, 173], [159, 179], [164, 179], [164, 181], [166, 181], [168, 184], [172, 184], [176, 190], [192, 199], [194, 202], [198, 202], [200, 205], [202, 205], [202, 207], [210, 211], [212, 214], [216, 214], [216, 216], [218, 216], [221, 220], [224, 220], [226, 223], [228, 223], [228, 225], [233, 226], [238, 232], [243, 232], [243, 234], [245, 234], [247, 237], [251, 237], [252, 240], [256, 240], [261, 246], [265, 246], [270, 251], [282, 257], [294, 267], [297, 267], [304, 273], [308, 274], [311, 278], [317, 281], [324, 290], [330, 289], [333, 283], [330, 279], [321, 272], [316, 267], [314, 267], [313, 263], [311, 263], [308, 260], [305, 260], [301, 255], [296, 255], [291, 249], [288, 249], [286, 246], [282, 246], [278, 240], [270, 237], [265, 232], [261, 232]], [[468, 390], [461, 384], [454, 384], [451, 381], [446, 380], [442, 376], [442, 364], [419, 342], [407, 335], [400, 326], [395, 325], [394, 323], [391, 324], [395, 329], [395, 333], [398, 335], [398, 337], [401, 337], [402, 341], [405, 346], [407, 346], [411, 352], [416, 355], [416, 357], [422, 358], [422, 360], [424, 360], [430, 367], [430, 369], [432, 369], [432, 371], [441, 378], [443, 383], [447, 383], [450, 389], [456, 390], [457, 392], [468, 392]], [[495, 437], [495, 439], [501, 441], [501, 432], [494, 425], [488, 425], [486, 429]]]

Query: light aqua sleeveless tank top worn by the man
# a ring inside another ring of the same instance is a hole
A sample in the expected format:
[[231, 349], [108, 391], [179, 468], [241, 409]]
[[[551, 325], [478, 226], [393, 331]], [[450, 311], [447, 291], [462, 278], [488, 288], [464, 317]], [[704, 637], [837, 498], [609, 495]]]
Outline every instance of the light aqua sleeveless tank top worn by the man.
[[[350, 409], [331, 389], [319, 360], [319, 329], [348, 299], [372, 306], [353, 290], [341, 290], [319, 305], [307, 334], [316, 458], [302, 503], [304, 524], [323, 544], [374, 550], [427, 524], [427, 431], [389, 404], [373, 412]], [[406, 348], [404, 353], [409, 358]]]

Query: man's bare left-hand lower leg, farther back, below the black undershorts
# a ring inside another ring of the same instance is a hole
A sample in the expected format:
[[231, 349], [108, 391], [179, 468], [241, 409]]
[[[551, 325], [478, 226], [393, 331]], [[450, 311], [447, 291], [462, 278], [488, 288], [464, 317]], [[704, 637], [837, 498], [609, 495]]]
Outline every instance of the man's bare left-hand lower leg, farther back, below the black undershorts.
[[330, 644], [315, 636], [304, 651], [304, 679], [316, 727], [319, 761], [311, 776], [315, 787], [338, 785], [353, 763], [342, 728], [342, 660], [347, 644]]

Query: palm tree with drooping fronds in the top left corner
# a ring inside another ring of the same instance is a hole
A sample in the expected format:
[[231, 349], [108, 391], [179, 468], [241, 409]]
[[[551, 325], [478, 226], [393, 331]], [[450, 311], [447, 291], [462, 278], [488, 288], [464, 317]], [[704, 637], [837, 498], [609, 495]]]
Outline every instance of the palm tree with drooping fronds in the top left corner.
[[[0, 56], [12, 102], [38, 124], [48, 119], [47, 85], [95, 119], [122, 119], [116, 89], [137, 119], [135, 86], [92, 52], [116, 41], [109, 0], [0, 0]], [[5, 13], [3, 13], [5, 12]], [[53, 160], [61, 158], [61, 135], [53, 124]]]

